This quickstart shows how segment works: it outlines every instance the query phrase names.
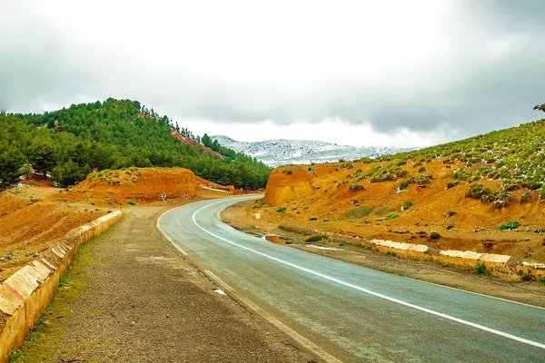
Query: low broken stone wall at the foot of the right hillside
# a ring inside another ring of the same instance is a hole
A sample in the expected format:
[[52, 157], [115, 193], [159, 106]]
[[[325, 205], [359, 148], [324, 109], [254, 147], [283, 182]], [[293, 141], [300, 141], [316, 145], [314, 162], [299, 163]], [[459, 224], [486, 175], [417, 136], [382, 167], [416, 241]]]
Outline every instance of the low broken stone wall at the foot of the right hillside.
[[493, 276], [504, 280], [521, 280], [527, 275], [530, 280], [545, 279], [545, 263], [515, 259], [509, 255], [473, 252], [471, 250], [437, 250], [423, 244], [395, 242], [392, 240], [366, 240], [344, 236], [339, 233], [325, 233], [329, 240], [369, 248], [381, 253], [393, 252], [397, 256], [412, 260], [433, 260], [461, 269], [474, 270], [484, 263]]

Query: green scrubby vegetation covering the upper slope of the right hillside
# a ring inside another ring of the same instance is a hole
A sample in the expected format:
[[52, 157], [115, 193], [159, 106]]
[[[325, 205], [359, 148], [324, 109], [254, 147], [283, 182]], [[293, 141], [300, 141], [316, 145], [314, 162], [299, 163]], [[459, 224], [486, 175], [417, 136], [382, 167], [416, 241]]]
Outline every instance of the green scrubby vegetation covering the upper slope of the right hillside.
[[[415, 152], [381, 156], [376, 159], [381, 164], [362, 173], [357, 180], [368, 179], [373, 183], [401, 179], [398, 191], [406, 190], [411, 184], [425, 187], [433, 182], [433, 176], [426, 173], [425, 165], [442, 159], [445, 167], [451, 168], [447, 189], [466, 184], [468, 198], [492, 203], [494, 208], [503, 208], [511, 201], [510, 191], [539, 191], [540, 198], [545, 198], [543, 140], [545, 119]], [[403, 168], [409, 162], [411, 170]], [[485, 188], [483, 181], [499, 181], [501, 189]], [[530, 201], [531, 195], [526, 194], [521, 202]]]

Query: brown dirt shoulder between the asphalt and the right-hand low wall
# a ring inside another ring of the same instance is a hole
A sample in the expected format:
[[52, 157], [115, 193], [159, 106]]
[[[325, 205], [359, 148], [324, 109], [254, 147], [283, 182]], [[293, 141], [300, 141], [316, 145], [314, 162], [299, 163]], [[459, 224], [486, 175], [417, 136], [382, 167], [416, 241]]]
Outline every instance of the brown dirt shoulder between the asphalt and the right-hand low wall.
[[[295, 233], [279, 230], [279, 222], [255, 220], [250, 216], [253, 201], [238, 203], [225, 211], [222, 220], [241, 231], [252, 234], [275, 233], [296, 242]], [[252, 214], [253, 215], [253, 214]], [[467, 270], [441, 266], [434, 262], [405, 260], [399, 257], [385, 256], [361, 247], [322, 240], [312, 244], [292, 243], [292, 248], [306, 250], [336, 260], [382, 270], [407, 278], [436, 283], [456, 289], [510, 299], [545, 308], [545, 287], [537, 282], [505, 282], [489, 275], [478, 275]]]

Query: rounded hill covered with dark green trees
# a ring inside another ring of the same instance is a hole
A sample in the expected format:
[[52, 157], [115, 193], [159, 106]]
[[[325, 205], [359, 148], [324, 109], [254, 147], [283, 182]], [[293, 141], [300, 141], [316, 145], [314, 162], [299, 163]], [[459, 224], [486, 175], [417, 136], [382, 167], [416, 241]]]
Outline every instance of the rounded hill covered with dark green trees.
[[[0, 113], [0, 185], [16, 182], [32, 165], [61, 186], [83, 181], [93, 170], [183, 167], [196, 175], [243, 188], [262, 188], [271, 169], [262, 162], [214, 145], [222, 156], [173, 137], [200, 142], [136, 101], [73, 104], [46, 113]], [[207, 141], [208, 142], [208, 141]]]

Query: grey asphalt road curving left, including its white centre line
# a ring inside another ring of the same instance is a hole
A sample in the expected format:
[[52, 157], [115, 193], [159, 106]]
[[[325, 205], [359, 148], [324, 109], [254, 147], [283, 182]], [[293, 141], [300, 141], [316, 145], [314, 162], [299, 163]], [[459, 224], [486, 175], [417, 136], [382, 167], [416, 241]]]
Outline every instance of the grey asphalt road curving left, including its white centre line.
[[545, 361], [545, 309], [276, 245], [220, 221], [220, 211], [250, 198], [197, 201], [158, 225], [230, 294], [320, 347], [323, 358]]

